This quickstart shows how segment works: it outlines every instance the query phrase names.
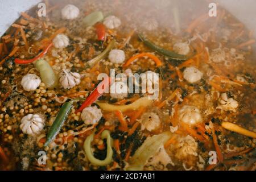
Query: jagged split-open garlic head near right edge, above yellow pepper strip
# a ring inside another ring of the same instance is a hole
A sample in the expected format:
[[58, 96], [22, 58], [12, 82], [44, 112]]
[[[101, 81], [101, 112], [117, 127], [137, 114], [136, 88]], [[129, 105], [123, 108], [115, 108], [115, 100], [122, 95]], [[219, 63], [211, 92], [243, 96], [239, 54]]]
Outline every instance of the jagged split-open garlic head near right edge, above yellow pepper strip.
[[222, 93], [219, 102], [220, 105], [217, 107], [217, 109], [222, 109], [224, 111], [233, 111], [234, 113], [236, 113], [238, 102], [233, 98], [229, 98], [228, 94]]

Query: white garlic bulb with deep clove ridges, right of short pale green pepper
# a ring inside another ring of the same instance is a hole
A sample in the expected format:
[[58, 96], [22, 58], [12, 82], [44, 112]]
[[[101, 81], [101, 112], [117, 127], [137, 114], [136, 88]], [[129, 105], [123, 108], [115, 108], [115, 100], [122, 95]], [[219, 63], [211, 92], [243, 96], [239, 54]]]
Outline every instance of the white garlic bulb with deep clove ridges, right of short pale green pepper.
[[81, 76], [79, 73], [73, 73], [66, 69], [62, 69], [62, 72], [59, 75], [59, 82], [64, 89], [71, 89], [80, 84]]

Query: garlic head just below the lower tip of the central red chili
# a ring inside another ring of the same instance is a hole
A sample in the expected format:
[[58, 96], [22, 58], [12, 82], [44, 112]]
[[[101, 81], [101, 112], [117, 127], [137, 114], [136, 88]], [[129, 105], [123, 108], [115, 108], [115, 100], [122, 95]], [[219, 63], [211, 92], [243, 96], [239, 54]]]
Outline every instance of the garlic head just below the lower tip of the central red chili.
[[101, 110], [98, 109], [96, 106], [86, 107], [82, 110], [81, 118], [84, 121], [85, 125], [93, 125], [100, 121], [102, 117]]

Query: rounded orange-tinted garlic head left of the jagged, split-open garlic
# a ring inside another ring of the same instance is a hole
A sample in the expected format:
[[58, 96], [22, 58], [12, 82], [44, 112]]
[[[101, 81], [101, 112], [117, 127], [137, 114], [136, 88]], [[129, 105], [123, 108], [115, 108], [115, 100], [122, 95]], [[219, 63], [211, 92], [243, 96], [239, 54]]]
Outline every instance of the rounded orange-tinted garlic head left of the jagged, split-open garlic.
[[200, 110], [195, 106], [183, 106], [179, 110], [179, 119], [188, 125], [195, 125], [203, 121]]

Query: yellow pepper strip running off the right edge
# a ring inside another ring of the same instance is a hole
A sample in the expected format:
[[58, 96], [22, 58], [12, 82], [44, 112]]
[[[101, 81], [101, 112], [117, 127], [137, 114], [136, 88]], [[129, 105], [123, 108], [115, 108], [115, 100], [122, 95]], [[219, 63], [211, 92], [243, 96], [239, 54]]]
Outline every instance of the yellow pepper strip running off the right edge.
[[254, 133], [253, 131], [246, 130], [236, 124], [230, 122], [223, 122], [221, 126], [224, 127], [224, 129], [226, 130], [234, 131], [247, 137], [256, 138], [256, 133]]

